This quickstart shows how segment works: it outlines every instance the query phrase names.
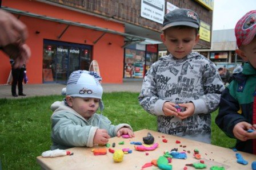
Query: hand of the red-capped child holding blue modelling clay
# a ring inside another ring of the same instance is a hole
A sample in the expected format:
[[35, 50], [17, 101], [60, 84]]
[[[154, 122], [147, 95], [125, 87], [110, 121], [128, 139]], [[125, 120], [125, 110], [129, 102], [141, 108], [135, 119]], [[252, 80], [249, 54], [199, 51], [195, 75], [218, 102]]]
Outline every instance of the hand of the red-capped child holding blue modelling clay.
[[256, 132], [247, 132], [250, 128], [253, 126], [250, 123], [247, 122], [239, 122], [235, 127], [233, 128], [233, 134], [235, 138], [246, 141], [248, 139], [253, 139], [256, 137]]

